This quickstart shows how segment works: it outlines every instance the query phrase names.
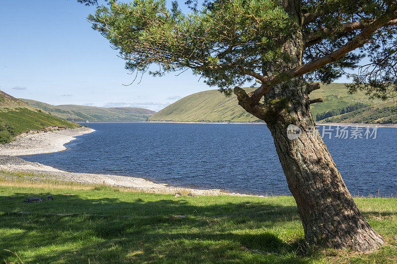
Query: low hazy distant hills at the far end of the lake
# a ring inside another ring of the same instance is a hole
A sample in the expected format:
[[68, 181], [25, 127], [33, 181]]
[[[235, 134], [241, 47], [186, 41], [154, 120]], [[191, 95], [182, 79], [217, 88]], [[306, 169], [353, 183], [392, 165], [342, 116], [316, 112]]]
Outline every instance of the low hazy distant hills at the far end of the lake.
[[42, 109], [70, 121], [144, 121], [155, 111], [139, 107], [53, 106], [39, 101], [21, 99], [29, 106]]

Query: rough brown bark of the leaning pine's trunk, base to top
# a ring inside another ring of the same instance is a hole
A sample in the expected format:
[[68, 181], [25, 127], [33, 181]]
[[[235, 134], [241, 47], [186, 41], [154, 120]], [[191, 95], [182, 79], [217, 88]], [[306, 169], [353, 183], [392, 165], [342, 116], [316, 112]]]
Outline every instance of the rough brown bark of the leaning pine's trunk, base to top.
[[[290, 16], [301, 20], [299, 0], [279, 0]], [[293, 68], [302, 64], [304, 42], [302, 32], [283, 41], [282, 50], [288, 53], [287, 62], [266, 63], [264, 76], [272, 72]], [[277, 65], [277, 68], [275, 68]], [[381, 235], [367, 223], [347, 190], [320, 133], [310, 132], [316, 124], [313, 120], [308, 89], [303, 77], [285, 84], [278, 84], [265, 94], [264, 102], [253, 104], [251, 95], [239, 87], [234, 89], [239, 105], [264, 120], [274, 139], [274, 144], [288, 187], [295, 198], [310, 245], [331, 248], [351, 248], [369, 252], [385, 244]], [[320, 102], [321, 100], [319, 100]], [[302, 130], [300, 137], [290, 140], [287, 127], [290, 124]]]

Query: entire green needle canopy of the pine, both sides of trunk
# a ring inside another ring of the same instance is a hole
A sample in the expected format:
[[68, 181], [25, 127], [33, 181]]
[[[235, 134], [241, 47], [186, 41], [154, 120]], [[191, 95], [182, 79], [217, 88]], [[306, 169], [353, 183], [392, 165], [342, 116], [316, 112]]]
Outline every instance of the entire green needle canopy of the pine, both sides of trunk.
[[[291, 3], [300, 10], [287, 10]], [[110, 0], [88, 20], [136, 73], [162, 76], [190, 68], [223, 92], [254, 79], [271, 87], [302, 75], [325, 83], [347, 75], [356, 81], [349, 86], [351, 92], [395, 95], [393, 1], [215, 0], [196, 7], [183, 14], [176, 1], [167, 9], [165, 0]], [[299, 15], [292, 16], [294, 12]], [[285, 52], [285, 43], [298, 35], [304, 41], [301, 65], [286, 69], [293, 58]], [[370, 63], [359, 74], [345, 71], [359, 67], [364, 56]]]

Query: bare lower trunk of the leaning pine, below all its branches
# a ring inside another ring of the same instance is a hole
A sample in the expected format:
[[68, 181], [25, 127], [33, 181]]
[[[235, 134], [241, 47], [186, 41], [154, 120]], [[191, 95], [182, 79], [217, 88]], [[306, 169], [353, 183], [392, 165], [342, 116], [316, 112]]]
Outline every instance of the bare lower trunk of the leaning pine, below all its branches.
[[[378, 249], [385, 240], [358, 210], [320, 133], [311, 133], [310, 128], [316, 125], [309, 107], [297, 104], [292, 109], [267, 126], [295, 198], [307, 243], [360, 252]], [[287, 137], [291, 123], [302, 129], [293, 140]]]

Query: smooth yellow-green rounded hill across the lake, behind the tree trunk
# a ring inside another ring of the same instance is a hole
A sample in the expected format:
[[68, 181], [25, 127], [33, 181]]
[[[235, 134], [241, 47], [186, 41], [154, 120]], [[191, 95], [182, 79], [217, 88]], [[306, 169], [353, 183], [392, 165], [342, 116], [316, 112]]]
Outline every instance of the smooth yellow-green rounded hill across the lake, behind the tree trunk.
[[[253, 88], [248, 88], [250, 92]], [[320, 90], [310, 94], [311, 99], [324, 98], [324, 103], [311, 106], [313, 116], [318, 113], [341, 108], [355, 103], [366, 105], [380, 104], [379, 100], [368, 100], [367, 96], [359, 92], [349, 95], [342, 83], [322, 85]], [[148, 119], [149, 121], [259, 121], [238, 105], [237, 98], [232, 95], [226, 98], [218, 90], [199, 92], [165, 107]]]

